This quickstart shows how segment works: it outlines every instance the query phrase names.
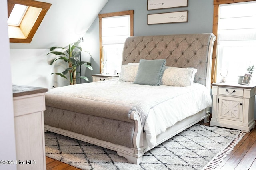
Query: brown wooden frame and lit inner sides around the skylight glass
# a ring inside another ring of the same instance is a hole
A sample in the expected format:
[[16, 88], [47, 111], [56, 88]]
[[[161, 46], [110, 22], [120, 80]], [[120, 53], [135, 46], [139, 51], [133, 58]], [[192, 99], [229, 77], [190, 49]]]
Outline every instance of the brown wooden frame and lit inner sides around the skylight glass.
[[[36, 30], [40, 26], [44, 16], [46, 15], [52, 4], [34, 0], [8, 0], [8, 17], [10, 16], [15, 4], [26, 5], [31, 8], [28, 9], [28, 11], [26, 12], [19, 27], [8, 26], [9, 31], [12, 31], [9, 32], [9, 34], [14, 35], [14, 38], [10, 38], [10, 43], [30, 43], [36, 33]], [[39, 11], [37, 8], [41, 8], [41, 10]], [[34, 16], [38, 17], [35, 18]]]

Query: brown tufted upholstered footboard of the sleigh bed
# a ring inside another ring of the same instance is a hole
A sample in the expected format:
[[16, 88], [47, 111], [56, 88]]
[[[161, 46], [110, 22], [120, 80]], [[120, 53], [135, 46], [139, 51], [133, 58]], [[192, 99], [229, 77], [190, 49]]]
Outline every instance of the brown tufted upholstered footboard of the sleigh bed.
[[116, 150], [130, 162], [141, 162], [142, 123], [132, 106], [46, 94], [44, 124], [45, 130]]

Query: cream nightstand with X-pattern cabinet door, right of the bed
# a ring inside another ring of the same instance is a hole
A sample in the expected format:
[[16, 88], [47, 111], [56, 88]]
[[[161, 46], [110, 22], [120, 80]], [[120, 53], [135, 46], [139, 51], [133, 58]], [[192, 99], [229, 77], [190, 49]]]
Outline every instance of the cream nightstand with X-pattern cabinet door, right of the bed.
[[213, 83], [210, 125], [250, 132], [255, 126], [255, 94], [256, 85]]

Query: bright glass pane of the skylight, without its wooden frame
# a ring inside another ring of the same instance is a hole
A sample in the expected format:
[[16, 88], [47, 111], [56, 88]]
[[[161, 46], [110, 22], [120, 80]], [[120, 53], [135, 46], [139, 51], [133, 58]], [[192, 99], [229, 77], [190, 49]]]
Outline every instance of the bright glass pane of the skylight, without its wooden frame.
[[28, 6], [15, 4], [14, 8], [8, 18], [9, 26], [20, 26], [20, 23], [28, 10]]

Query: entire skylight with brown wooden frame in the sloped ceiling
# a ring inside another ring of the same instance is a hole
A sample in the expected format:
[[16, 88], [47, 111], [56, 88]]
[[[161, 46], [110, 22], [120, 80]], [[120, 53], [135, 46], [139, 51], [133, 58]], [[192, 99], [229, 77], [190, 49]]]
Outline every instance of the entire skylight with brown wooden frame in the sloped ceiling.
[[11, 43], [30, 43], [51, 4], [34, 0], [8, 0]]

